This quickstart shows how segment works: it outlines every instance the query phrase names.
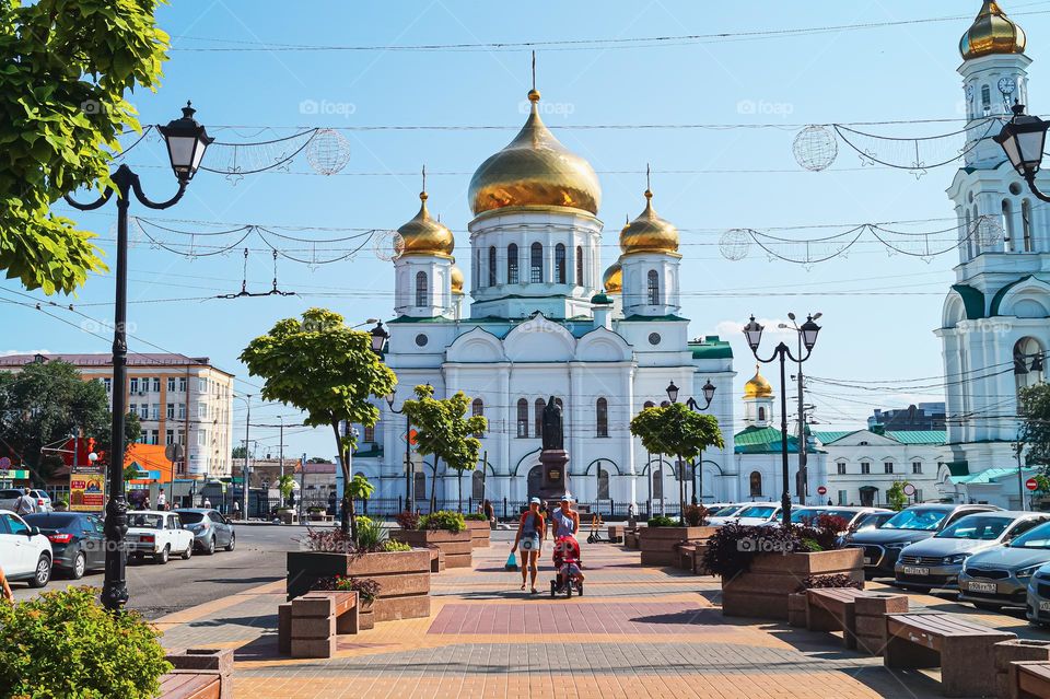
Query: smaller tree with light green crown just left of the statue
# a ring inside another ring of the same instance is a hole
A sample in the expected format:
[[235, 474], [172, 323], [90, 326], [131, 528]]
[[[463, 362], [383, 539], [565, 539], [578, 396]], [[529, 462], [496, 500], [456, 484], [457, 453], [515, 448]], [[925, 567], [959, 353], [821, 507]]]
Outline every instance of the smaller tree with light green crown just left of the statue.
[[438, 463], [459, 476], [459, 510], [463, 510], [463, 471], [474, 470], [481, 452], [481, 442], [474, 436], [488, 429], [482, 416], [466, 417], [470, 398], [462, 391], [451, 398], [434, 398], [430, 384], [416, 386], [416, 400], [406, 400], [402, 410], [416, 428], [420, 454], [434, 457], [434, 478], [430, 482], [430, 510], [436, 509]]

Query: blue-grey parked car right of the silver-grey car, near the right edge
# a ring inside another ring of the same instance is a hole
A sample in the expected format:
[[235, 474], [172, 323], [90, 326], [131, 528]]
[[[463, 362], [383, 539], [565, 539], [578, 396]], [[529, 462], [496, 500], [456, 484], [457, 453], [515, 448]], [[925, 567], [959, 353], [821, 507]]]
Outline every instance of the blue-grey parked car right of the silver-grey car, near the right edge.
[[1050, 563], [1050, 523], [966, 559], [959, 571], [959, 599], [980, 609], [1024, 607], [1028, 583], [1045, 563]]

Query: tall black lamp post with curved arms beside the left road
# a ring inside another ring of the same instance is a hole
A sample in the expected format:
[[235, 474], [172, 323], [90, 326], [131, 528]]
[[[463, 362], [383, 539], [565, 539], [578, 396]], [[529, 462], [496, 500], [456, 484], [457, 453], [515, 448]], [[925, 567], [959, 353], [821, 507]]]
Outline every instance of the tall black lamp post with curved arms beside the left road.
[[81, 211], [91, 211], [104, 206], [113, 198], [117, 198], [117, 268], [116, 268], [116, 304], [114, 308], [113, 328], [113, 426], [109, 441], [108, 468], [108, 502], [106, 503], [105, 541], [106, 541], [106, 575], [102, 584], [102, 604], [109, 610], [119, 610], [128, 602], [128, 586], [125, 581], [127, 564], [127, 549], [125, 536], [128, 532], [128, 502], [124, 491], [124, 417], [127, 412], [125, 399], [125, 384], [127, 383], [128, 340], [128, 207], [130, 196], [150, 209], [167, 209], [174, 206], [183, 195], [186, 186], [197, 174], [197, 168], [205, 156], [205, 151], [212, 142], [212, 138], [205, 131], [205, 127], [194, 119], [195, 109], [190, 103], [183, 107], [183, 116], [160, 127], [161, 135], [167, 141], [167, 154], [172, 162], [172, 170], [178, 180], [178, 191], [167, 201], [152, 201], [142, 193], [139, 176], [126, 164], [120, 165], [113, 174], [113, 187], [106, 187], [103, 195], [91, 203], [79, 203], [70, 196], [66, 201]]

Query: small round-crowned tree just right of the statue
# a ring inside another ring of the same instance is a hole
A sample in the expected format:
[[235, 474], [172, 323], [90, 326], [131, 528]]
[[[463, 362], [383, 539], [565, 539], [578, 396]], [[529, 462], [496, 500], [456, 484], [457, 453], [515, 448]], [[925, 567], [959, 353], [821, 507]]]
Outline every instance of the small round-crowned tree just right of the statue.
[[[631, 420], [631, 434], [642, 441], [646, 451], [674, 455], [682, 464], [698, 458], [708, 447], [725, 446], [714, 416], [693, 412], [684, 403], [673, 403], [663, 408], [645, 408]], [[678, 473], [678, 512], [685, 513], [684, 473]]]

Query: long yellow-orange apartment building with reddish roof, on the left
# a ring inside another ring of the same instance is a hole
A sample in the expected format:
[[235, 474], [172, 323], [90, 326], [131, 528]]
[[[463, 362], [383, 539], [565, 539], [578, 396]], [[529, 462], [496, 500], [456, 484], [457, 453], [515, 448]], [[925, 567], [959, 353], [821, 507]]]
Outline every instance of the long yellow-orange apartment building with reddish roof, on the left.
[[[0, 357], [0, 371], [18, 371], [31, 362], [61, 360], [81, 376], [106, 388], [113, 405], [109, 354], [11, 354]], [[142, 423], [143, 444], [182, 444], [177, 477], [230, 476], [233, 440], [233, 374], [207, 357], [128, 353], [128, 412]]]

